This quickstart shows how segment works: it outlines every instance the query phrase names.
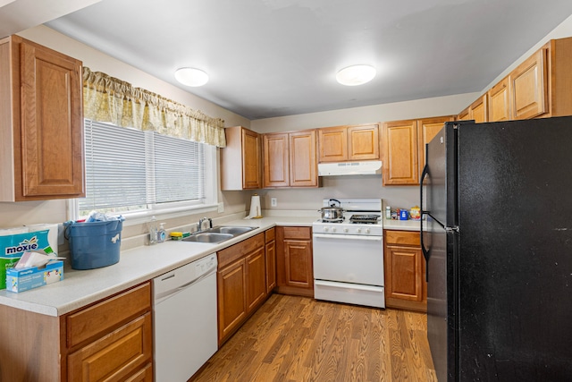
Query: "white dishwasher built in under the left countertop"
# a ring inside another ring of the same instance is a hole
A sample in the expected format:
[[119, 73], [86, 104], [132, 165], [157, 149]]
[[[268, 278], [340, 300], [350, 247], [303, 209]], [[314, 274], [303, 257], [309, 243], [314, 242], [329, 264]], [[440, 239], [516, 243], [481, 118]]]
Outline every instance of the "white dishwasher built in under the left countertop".
[[153, 280], [156, 382], [188, 380], [216, 352], [216, 254]]

